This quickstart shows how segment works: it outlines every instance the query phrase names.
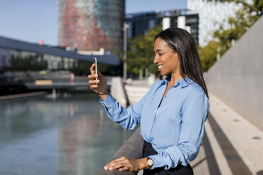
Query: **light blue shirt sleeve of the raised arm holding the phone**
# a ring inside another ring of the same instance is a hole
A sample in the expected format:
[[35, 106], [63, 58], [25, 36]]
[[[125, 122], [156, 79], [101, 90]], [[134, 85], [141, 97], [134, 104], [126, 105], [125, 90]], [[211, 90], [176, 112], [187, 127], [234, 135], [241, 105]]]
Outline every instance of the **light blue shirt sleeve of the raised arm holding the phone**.
[[141, 110], [143, 108], [144, 100], [146, 95], [137, 102], [131, 105], [128, 109], [122, 107], [119, 102], [112, 95], [107, 95], [105, 101], [100, 98], [100, 103], [103, 104], [107, 112], [107, 116], [118, 123], [122, 128], [132, 130], [135, 128], [137, 123], [141, 121]]

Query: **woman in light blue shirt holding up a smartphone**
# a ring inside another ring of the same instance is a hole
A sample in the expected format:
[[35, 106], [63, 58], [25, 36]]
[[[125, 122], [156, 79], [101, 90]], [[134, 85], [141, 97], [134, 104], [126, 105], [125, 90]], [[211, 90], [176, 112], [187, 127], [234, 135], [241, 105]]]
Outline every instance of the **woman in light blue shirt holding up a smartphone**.
[[[165, 80], [158, 80], [136, 104], [124, 109], [107, 92], [103, 75], [88, 76], [90, 88], [100, 95], [107, 115], [126, 129], [141, 123], [143, 158], [120, 157], [105, 170], [139, 171], [144, 174], [193, 174], [189, 162], [197, 157], [209, 98], [192, 36], [180, 28], [168, 28], [154, 39], [153, 60]], [[98, 77], [98, 80], [95, 78]]]

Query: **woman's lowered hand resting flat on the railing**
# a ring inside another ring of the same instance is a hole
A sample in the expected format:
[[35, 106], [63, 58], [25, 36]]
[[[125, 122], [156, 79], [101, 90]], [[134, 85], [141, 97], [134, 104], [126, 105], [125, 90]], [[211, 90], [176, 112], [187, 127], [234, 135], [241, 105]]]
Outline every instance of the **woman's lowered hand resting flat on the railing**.
[[105, 165], [105, 170], [119, 169], [119, 171], [139, 171], [146, 169], [147, 158], [142, 159], [129, 159], [127, 157], [120, 157], [119, 159], [112, 160], [112, 162]]

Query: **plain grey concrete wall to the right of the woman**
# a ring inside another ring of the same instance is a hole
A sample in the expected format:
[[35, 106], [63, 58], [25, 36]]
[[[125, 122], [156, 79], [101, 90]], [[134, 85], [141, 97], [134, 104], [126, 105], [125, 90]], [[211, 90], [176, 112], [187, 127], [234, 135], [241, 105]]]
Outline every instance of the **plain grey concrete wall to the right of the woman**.
[[206, 74], [209, 92], [263, 130], [263, 18]]

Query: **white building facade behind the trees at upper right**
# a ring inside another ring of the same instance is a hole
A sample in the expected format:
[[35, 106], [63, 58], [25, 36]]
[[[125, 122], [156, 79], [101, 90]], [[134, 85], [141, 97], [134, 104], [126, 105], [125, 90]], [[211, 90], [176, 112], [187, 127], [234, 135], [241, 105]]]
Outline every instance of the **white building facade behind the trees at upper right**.
[[213, 32], [220, 24], [223, 28], [230, 28], [228, 17], [235, 16], [240, 6], [235, 3], [219, 2], [214, 0], [187, 0], [187, 9], [190, 13], [199, 15], [199, 45], [206, 46], [213, 39]]

